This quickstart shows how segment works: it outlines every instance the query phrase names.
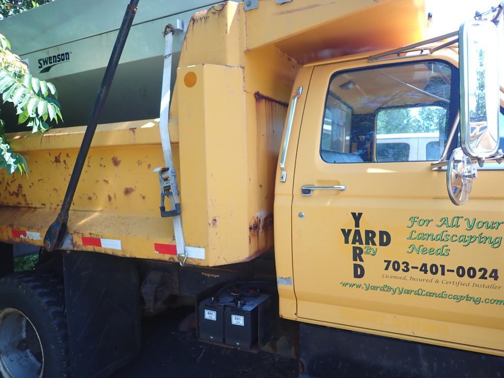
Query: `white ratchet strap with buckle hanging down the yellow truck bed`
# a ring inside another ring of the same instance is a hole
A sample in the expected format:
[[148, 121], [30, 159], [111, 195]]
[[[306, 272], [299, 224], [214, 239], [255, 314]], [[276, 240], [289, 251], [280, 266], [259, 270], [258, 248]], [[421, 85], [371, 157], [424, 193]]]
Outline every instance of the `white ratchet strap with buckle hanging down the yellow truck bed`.
[[[171, 68], [172, 68], [172, 51], [173, 51], [173, 30], [170, 25], [166, 27], [164, 33], [165, 50], [164, 50], [164, 66], [163, 66], [163, 82], [161, 90], [161, 110], [159, 116], [159, 133], [161, 134], [161, 146], [163, 148], [164, 168], [157, 168], [159, 172], [159, 181], [161, 185], [161, 206], [164, 206], [164, 197], [168, 197], [172, 211], [178, 209], [178, 214], [170, 216], [173, 220], [173, 231], [175, 234], [175, 244], [177, 246], [177, 258], [181, 266], [184, 266], [187, 259], [185, 251], [185, 240], [182, 232], [182, 219], [180, 217], [180, 201], [178, 198], [177, 175], [173, 167], [173, 155], [171, 151], [170, 133], [168, 130], [168, 118], [170, 111], [170, 95], [171, 95]], [[168, 188], [169, 183], [169, 188]], [[169, 195], [166, 193], [169, 192]], [[178, 207], [176, 206], [178, 205]], [[163, 209], [162, 209], [163, 210]], [[161, 210], [161, 211], [162, 211]]]

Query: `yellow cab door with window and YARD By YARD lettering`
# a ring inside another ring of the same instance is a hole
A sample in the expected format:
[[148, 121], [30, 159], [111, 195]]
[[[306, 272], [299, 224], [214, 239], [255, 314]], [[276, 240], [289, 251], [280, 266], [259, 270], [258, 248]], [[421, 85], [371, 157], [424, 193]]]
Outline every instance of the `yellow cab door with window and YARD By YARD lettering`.
[[479, 170], [464, 206], [431, 169], [459, 110], [444, 59], [314, 67], [293, 179], [297, 317], [503, 355], [504, 167]]

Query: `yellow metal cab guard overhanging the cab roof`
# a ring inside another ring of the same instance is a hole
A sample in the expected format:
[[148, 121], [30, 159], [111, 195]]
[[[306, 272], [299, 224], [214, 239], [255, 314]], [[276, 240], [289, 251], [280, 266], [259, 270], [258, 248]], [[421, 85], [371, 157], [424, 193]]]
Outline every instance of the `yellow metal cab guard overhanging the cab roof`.
[[274, 43], [306, 64], [426, 39], [427, 14], [422, 0], [261, 1], [246, 28], [247, 50]]

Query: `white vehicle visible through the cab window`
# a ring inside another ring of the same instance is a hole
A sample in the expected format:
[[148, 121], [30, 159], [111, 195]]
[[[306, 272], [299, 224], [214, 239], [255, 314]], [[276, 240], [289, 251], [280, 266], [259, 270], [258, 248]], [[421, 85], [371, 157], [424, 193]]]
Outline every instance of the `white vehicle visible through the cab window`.
[[376, 161], [435, 161], [444, 148], [439, 133], [381, 134], [376, 136]]

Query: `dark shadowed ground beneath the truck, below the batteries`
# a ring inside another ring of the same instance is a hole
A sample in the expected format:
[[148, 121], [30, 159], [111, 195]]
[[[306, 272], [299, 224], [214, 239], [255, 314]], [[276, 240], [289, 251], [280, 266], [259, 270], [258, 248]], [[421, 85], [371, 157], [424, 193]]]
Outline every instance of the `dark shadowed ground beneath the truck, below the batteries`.
[[179, 331], [191, 310], [144, 319], [140, 355], [111, 378], [297, 378], [294, 359], [201, 343], [194, 330]]

